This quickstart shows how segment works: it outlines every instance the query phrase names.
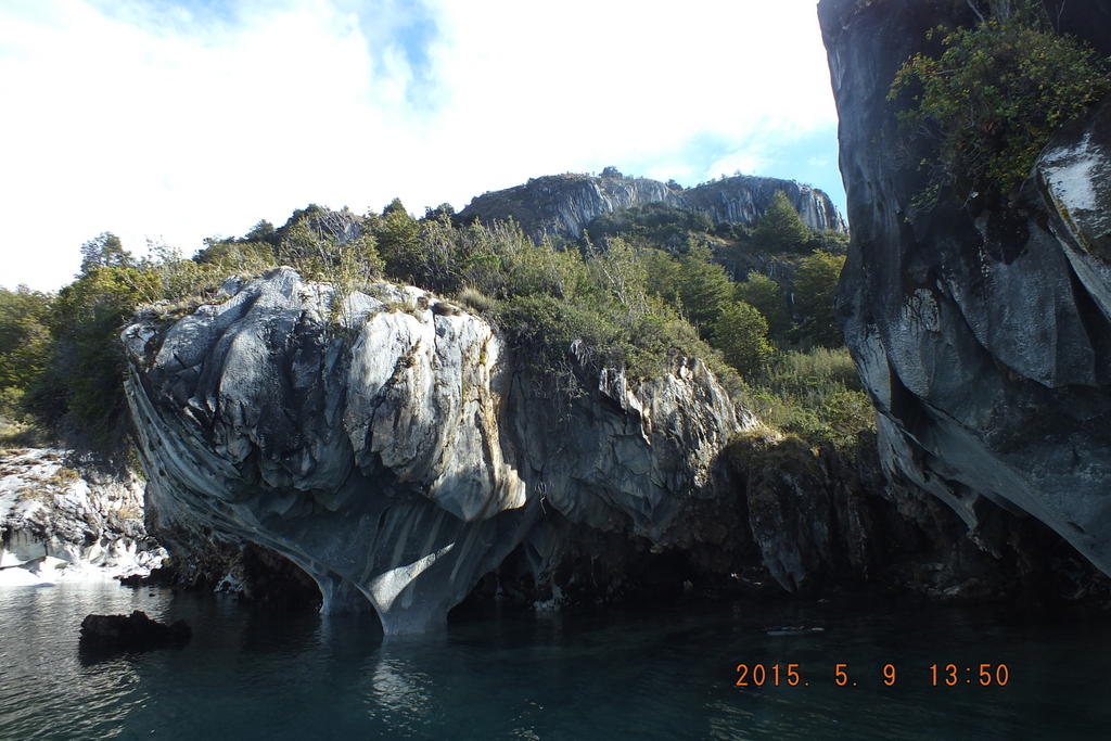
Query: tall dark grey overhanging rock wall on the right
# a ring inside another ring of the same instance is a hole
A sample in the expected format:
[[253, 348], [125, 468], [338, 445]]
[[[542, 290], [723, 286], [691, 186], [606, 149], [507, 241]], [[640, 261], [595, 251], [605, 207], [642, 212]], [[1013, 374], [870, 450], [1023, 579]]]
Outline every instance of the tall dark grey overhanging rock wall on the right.
[[[1111, 3], [1063, 30], [1108, 52]], [[853, 224], [838, 317], [880, 412], [880, 452], [973, 534], [997, 505], [1111, 573], [1111, 101], [1060, 131], [1018, 208], [923, 187], [900, 158], [895, 70], [953, 4], [822, 0]], [[1101, 19], [1103, 19], [1101, 21]]]

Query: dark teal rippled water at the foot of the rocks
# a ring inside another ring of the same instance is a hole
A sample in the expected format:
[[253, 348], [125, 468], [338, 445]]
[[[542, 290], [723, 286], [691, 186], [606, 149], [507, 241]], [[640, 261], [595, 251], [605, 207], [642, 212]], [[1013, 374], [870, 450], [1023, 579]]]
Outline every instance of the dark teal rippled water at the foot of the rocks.
[[[86, 614], [134, 609], [186, 619], [192, 642], [79, 654]], [[765, 631], [781, 627], [824, 630]], [[113, 583], [8, 587], [0, 738], [1100, 739], [1109, 658], [1111, 619], [1074, 610], [1018, 619], [783, 602], [474, 619], [383, 641], [369, 615], [276, 614]], [[739, 663], [779, 663], [780, 687], [770, 673], [735, 687]], [[981, 663], [1007, 664], [1005, 687], [981, 687]]]

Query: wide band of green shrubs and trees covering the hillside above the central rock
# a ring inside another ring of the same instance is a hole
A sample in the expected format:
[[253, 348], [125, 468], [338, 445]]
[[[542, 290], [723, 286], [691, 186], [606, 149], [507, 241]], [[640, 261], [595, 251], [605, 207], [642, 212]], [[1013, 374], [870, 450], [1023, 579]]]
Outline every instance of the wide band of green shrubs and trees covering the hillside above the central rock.
[[[782, 194], [751, 229], [715, 229], [703, 214], [653, 204], [595, 219], [579, 242], [537, 243], [512, 221], [463, 224], [448, 206], [416, 219], [398, 200], [362, 216], [312, 204], [281, 227], [260, 221], [241, 238], [206, 240], [191, 259], [161, 244], [137, 259], [104, 233], [81, 248], [81, 273], [57, 297], [0, 296], [0, 378], [16, 389], [4, 391], [9, 407], [34, 412], [71, 444], [119, 458], [128, 425], [118, 338], [136, 310], [174, 321], [217, 300], [231, 276], [289, 264], [331, 282], [337, 307], [382, 279], [454, 297], [502, 328], [546, 397], [584, 393], [604, 367], [648, 378], [674, 357], [699, 357], [738, 397], [774, 399], [753, 403], [777, 410], [784, 430], [851, 449], [829, 408], [851, 410], [849, 427], [870, 427], [859, 387], [839, 378], [814, 397], [773, 380], [791, 371], [772, 369], [840, 344], [832, 296], [843, 258], [812, 251], [825, 242], [843, 250], [811, 234]], [[732, 279], [727, 253], [741, 261], [734, 274], [751, 266], [745, 282]], [[18, 378], [12, 368], [22, 369]], [[830, 383], [821, 373], [809, 380]], [[814, 399], [822, 409], [808, 407]]]

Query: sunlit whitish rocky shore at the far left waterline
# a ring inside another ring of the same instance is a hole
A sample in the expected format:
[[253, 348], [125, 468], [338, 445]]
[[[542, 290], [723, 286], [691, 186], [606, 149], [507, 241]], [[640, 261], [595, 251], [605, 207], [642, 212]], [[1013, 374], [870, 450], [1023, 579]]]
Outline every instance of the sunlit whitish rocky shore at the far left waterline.
[[67, 455], [24, 449], [0, 457], [0, 569], [68, 578], [160, 567], [167, 552], [147, 533], [142, 482], [70, 468]]

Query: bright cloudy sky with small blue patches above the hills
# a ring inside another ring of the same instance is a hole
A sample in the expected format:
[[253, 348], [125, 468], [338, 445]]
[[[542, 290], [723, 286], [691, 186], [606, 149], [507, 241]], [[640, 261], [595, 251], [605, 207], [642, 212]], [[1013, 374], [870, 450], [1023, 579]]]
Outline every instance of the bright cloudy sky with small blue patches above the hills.
[[394, 198], [738, 171], [843, 209], [815, 0], [0, 0], [0, 286]]

